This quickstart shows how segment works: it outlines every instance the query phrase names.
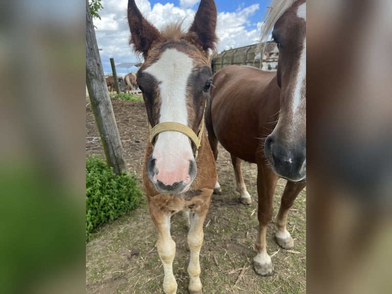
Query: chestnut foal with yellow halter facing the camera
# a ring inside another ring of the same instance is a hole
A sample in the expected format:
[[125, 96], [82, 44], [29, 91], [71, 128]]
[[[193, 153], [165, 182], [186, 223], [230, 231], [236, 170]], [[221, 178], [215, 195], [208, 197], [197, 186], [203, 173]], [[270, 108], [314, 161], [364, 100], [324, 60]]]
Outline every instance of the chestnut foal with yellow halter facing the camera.
[[165, 293], [176, 293], [172, 262], [176, 243], [170, 236], [170, 217], [185, 211], [190, 220], [188, 266], [191, 293], [202, 293], [199, 254], [203, 223], [216, 182], [213, 154], [204, 132], [204, 111], [212, 71], [209, 50], [215, 49], [216, 6], [202, 0], [187, 32], [172, 24], [161, 32], [128, 1], [130, 43], [142, 53], [137, 73], [150, 131], [143, 164], [143, 186], [158, 232]]

